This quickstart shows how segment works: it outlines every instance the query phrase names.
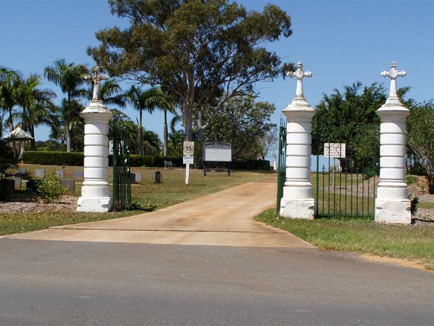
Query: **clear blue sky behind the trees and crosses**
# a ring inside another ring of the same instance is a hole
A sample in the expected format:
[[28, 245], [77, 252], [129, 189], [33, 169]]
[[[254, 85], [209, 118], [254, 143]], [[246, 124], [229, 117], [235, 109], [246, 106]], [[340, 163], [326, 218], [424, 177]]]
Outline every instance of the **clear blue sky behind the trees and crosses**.
[[[128, 26], [110, 14], [105, 0], [0, 0], [0, 64], [41, 74], [57, 58], [93, 65], [86, 55], [96, 45], [94, 33], [105, 27]], [[247, 9], [262, 10], [270, 1], [239, 1]], [[409, 97], [429, 100], [434, 93], [434, 1], [271, 1], [292, 19], [293, 35], [268, 46], [285, 61], [303, 61], [313, 76], [304, 83], [307, 101], [316, 105], [323, 93], [360, 80], [389, 83], [380, 76], [391, 61], [407, 71], [398, 87], [410, 86]], [[58, 101], [62, 94], [51, 83]], [[295, 80], [276, 79], [257, 85], [262, 100], [274, 103], [272, 121], [295, 95]], [[136, 111], [125, 112], [135, 120]], [[162, 135], [163, 116], [145, 114], [144, 126]], [[48, 138], [47, 127], [36, 139]]]

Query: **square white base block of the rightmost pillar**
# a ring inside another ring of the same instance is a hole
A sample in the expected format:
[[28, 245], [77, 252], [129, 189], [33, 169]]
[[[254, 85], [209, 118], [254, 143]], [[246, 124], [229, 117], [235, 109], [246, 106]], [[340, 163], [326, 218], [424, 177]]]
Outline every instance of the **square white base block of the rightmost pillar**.
[[375, 200], [375, 221], [377, 223], [411, 223], [410, 201], [401, 200]]

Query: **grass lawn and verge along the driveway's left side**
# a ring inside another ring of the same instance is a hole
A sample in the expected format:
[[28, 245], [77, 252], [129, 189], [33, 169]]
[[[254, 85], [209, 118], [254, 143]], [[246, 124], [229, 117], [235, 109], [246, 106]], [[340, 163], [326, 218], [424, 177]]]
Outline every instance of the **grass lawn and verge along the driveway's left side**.
[[[218, 192], [265, 177], [260, 172], [232, 172], [228, 177], [224, 172], [208, 172], [203, 177], [202, 171], [190, 170], [190, 185], [185, 185], [185, 170], [165, 170], [163, 182], [154, 184], [152, 172], [156, 169], [140, 169], [143, 181], [133, 185], [132, 199], [148, 210], [161, 209], [183, 201]], [[133, 171], [134, 172], [134, 171]], [[81, 185], [76, 184], [76, 194]], [[0, 235], [21, 233], [44, 229], [50, 226], [92, 222], [104, 219], [119, 218], [143, 213], [143, 211], [122, 211], [110, 213], [76, 213], [76, 212], [44, 212], [44, 213], [0, 213]]]

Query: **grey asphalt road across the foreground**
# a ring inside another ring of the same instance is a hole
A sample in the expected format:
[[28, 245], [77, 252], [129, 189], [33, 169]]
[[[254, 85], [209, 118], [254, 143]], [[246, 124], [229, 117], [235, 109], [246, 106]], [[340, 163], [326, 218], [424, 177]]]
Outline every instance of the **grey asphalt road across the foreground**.
[[432, 325], [434, 273], [300, 248], [0, 239], [0, 325]]

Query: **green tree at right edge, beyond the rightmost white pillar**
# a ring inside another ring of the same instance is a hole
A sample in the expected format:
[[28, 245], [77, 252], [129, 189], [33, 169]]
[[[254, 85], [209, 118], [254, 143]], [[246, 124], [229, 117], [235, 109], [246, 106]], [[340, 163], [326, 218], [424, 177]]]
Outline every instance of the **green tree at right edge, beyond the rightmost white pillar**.
[[418, 103], [410, 107], [407, 118], [408, 156], [414, 155], [428, 179], [429, 192], [434, 194], [434, 104]]

